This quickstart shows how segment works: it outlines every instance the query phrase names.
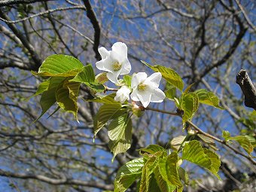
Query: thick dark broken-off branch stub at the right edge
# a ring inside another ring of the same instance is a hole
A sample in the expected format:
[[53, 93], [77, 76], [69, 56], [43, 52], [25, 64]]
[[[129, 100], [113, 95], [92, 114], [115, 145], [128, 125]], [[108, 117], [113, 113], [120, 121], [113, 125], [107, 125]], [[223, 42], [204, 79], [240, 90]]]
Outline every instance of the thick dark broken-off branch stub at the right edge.
[[256, 89], [251, 78], [244, 69], [241, 69], [236, 75], [236, 84], [239, 84], [242, 93], [245, 95], [245, 106], [254, 108], [256, 111]]

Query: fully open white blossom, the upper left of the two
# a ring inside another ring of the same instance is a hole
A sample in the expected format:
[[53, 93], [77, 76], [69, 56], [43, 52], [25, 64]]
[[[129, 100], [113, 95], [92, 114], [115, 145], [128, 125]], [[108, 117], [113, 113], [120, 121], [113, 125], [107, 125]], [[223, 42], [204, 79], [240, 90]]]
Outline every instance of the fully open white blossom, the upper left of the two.
[[96, 67], [107, 72], [107, 78], [114, 84], [118, 84], [118, 75], [130, 73], [131, 64], [127, 58], [126, 44], [117, 42], [113, 44], [112, 50], [100, 47], [99, 53], [102, 56], [102, 60], [96, 62]]

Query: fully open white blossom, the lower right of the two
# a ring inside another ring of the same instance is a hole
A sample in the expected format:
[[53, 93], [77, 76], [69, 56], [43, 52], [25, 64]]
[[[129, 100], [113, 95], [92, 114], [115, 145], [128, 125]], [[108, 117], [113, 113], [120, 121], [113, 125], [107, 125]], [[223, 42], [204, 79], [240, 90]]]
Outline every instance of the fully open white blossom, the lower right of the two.
[[139, 72], [134, 75], [131, 84], [133, 89], [131, 98], [133, 101], [142, 102], [145, 108], [148, 107], [150, 102], [163, 102], [166, 96], [158, 88], [161, 78], [160, 72], [156, 72], [149, 77], [145, 72]]

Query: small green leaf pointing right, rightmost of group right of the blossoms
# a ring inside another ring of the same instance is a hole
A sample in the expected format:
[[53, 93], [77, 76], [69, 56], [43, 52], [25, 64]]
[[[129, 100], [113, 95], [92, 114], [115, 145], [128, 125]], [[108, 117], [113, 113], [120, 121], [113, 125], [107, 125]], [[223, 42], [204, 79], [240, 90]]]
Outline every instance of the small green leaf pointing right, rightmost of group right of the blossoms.
[[197, 94], [200, 103], [211, 105], [215, 108], [225, 109], [219, 105], [220, 101], [218, 99], [218, 96], [215, 96], [215, 93], [212, 93], [208, 90], [203, 90], [203, 89], [196, 90], [194, 93]]

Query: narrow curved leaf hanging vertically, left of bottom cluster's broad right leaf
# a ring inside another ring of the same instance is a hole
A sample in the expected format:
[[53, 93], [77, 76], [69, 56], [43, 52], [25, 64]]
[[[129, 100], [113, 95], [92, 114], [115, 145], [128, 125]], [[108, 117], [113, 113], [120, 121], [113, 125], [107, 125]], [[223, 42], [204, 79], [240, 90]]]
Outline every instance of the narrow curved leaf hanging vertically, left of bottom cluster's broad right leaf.
[[177, 188], [183, 187], [181, 180], [178, 176], [178, 154], [176, 152], [172, 152], [169, 154], [166, 160], [166, 173], [169, 181], [177, 186]]

